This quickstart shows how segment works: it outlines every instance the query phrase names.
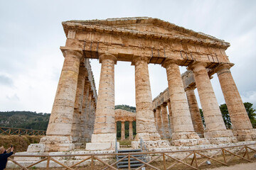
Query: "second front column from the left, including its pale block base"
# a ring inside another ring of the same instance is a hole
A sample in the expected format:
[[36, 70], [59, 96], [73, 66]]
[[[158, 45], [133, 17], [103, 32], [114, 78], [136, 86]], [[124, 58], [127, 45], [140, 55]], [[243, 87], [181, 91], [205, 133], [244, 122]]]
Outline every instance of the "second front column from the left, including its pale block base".
[[[97, 96], [95, 125], [92, 134], [92, 143], [86, 149], [114, 149], [116, 133], [114, 132], [114, 64], [117, 58], [114, 55], [100, 56], [102, 63], [100, 85]], [[102, 143], [105, 144], [102, 144]], [[107, 142], [107, 144], [106, 144]]]

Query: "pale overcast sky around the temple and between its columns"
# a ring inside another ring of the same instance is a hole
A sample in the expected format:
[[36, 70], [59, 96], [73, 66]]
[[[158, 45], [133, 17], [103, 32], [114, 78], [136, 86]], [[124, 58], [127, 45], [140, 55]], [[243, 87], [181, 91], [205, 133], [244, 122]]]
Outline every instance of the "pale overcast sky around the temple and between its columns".
[[[50, 113], [64, 60], [59, 50], [66, 39], [62, 21], [137, 16], [230, 42], [226, 53], [235, 63], [231, 72], [242, 100], [256, 106], [256, 1], [0, 0], [0, 111]], [[92, 72], [98, 89], [97, 60], [92, 61]], [[167, 87], [166, 71], [149, 64], [149, 76], [154, 98]], [[216, 74], [211, 82], [218, 103], [225, 103]], [[134, 66], [117, 62], [115, 104], [135, 106], [134, 86]]]

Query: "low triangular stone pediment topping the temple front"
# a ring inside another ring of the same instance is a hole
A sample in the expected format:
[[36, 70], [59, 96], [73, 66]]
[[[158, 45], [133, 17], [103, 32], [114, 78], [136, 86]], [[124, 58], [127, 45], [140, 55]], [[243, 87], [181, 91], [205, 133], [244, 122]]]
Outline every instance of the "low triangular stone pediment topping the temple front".
[[158, 18], [134, 17], [134, 18], [108, 18], [106, 20], [88, 20], [88, 21], [65, 21], [63, 27], [67, 34], [68, 24], [80, 24], [85, 27], [97, 27], [100, 29], [118, 30], [119, 32], [132, 32], [140, 35], [157, 35], [158, 37], [176, 37], [181, 39], [197, 39], [198, 41], [217, 42], [226, 47], [230, 46], [228, 42], [220, 40], [211, 35], [189, 30], [174, 23], [162, 21]]

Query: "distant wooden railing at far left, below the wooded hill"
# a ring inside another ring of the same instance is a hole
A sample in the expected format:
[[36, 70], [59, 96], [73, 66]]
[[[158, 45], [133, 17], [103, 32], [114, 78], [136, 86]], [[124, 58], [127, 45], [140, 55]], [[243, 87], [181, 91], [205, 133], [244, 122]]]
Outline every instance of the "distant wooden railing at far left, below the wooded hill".
[[46, 131], [0, 127], [0, 135], [46, 135]]

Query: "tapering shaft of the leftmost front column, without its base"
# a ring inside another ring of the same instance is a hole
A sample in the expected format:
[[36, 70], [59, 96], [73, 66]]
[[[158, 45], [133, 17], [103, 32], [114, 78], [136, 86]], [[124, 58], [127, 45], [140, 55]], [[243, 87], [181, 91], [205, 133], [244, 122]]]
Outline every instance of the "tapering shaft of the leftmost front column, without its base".
[[75, 94], [78, 85], [80, 53], [65, 51], [65, 60], [60, 74], [58, 89], [55, 94], [53, 109], [47, 128], [47, 135], [71, 135]]

